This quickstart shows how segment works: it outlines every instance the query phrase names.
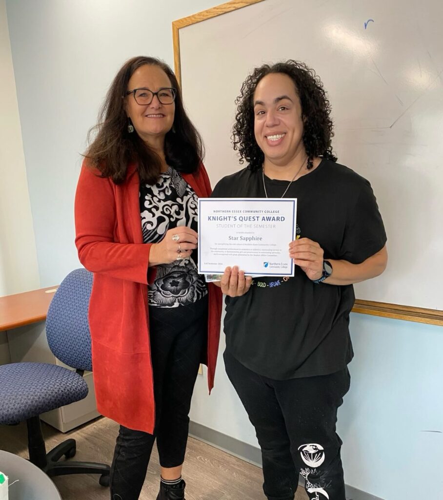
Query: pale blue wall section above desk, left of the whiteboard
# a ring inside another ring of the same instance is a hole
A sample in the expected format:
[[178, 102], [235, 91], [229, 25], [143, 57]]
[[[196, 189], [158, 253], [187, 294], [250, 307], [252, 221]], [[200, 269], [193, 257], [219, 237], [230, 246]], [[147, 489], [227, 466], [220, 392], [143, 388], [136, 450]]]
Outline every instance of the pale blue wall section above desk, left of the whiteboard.
[[80, 153], [108, 85], [134, 55], [173, 67], [173, 20], [217, 0], [6, 0], [41, 286], [79, 266]]

